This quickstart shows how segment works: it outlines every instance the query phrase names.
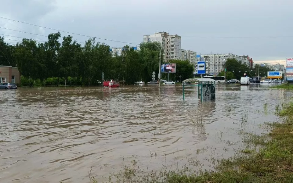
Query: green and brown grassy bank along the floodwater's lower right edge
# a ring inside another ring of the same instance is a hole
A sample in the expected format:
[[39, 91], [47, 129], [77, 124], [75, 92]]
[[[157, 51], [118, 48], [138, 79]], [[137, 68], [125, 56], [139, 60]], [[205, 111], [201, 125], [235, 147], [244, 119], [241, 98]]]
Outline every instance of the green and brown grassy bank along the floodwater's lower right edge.
[[[119, 174], [112, 174], [105, 182], [140, 183], [283, 183], [293, 182], [293, 102], [283, 105], [278, 113], [282, 123], [270, 123], [272, 130], [267, 135], [243, 133], [243, 141], [248, 146], [230, 159], [217, 160], [217, 171], [195, 171], [183, 167], [161, 172], [145, 173], [136, 161]], [[258, 149], [250, 149], [258, 145]], [[199, 153], [199, 149], [195, 154]], [[193, 160], [194, 161], [194, 160]], [[197, 161], [195, 164], [200, 165]], [[192, 163], [194, 164], [194, 163]], [[92, 171], [92, 170], [91, 170]], [[89, 173], [91, 183], [98, 181]]]

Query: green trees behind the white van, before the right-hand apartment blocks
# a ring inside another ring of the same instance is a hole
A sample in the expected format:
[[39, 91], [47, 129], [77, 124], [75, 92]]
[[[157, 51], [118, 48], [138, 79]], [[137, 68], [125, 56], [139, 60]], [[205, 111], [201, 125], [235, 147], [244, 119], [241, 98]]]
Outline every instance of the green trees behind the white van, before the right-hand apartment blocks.
[[[241, 61], [237, 61], [237, 59], [227, 59], [226, 63], [226, 79], [239, 79], [241, 77], [244, 77], [244, 73], [248, 77], [265, 77], [267, 75], [268, 71], [274, 71], [271, 70], [267, 66], [260, 66], [259, 64], [256, 64], [255, 67], [252, 69], [247, 66], [246, 64], [241, 63]], [[224, 67], [224, 66], [223, 66]], [[218, 76], [224, 76], [224, 71], [220, 72]]]

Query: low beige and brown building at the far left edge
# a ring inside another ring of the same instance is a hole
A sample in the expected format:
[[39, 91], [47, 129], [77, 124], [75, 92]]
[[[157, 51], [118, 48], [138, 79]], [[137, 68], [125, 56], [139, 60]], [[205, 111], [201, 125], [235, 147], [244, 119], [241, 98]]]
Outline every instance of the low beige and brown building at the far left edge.
[[20, 72], [17, 67], [0, 66], [0, 83], [20, 84]]

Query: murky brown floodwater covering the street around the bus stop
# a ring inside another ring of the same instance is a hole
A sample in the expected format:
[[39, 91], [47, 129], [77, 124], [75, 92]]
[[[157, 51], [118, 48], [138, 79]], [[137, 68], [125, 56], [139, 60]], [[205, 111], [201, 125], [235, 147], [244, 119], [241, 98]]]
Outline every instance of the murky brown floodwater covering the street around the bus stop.
[[[0, 91], [0, 182], [88, 182], [136, 160], [147, 170], [233, 156], [241, 131], [266, 133], [292, 93], [269, 84], [197, 87], [19, 88]], [[265, 107], [264, 107], [265, 106]]]

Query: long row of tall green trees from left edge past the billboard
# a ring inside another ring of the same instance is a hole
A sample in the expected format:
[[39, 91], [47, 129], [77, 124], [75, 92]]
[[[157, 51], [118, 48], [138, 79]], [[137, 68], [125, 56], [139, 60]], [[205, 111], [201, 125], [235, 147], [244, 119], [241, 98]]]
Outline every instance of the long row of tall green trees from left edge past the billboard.
[[[90, 38], [84, 45], [68, 35], [52, 33], [45, 43], [23, 39], [9, 45], [0, 37], [0, 65], [17, 66], [23, 85], [97, 85], [104, 79], [114, 79], [124, 84], [150, 81], [152, 73], [159, 70], [159, 43], [141, 43], [140, 51], [126, 45], [120, 56], [112, 57], [110, 47]], [[156, 44], [156, 45], [155, 45]], [[172, 60], [177, 72], [170, 78], [181, 80], [192, 77], [194, 66], [188, 60]], [[156, 75], [158, 76], [158, 75]], [[167, 77], [163, 74], [162, 77]]]

